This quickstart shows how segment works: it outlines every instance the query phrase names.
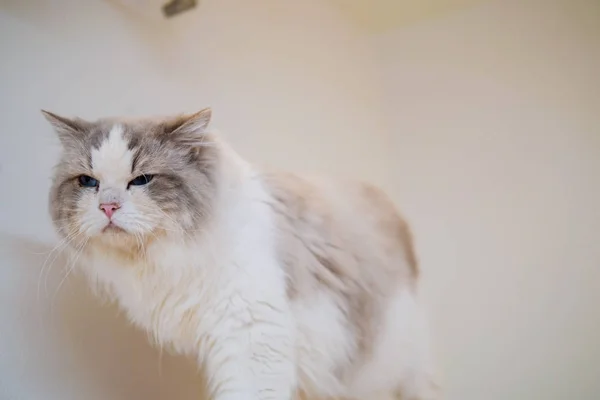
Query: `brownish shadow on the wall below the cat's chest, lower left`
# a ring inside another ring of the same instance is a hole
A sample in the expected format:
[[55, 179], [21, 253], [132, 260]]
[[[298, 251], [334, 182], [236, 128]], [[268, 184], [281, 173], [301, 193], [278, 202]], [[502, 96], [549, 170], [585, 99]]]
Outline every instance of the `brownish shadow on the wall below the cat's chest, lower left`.
[[197, 400], [194, 363], [151, 347], [81, 274], [63, 281], [55, 253], [0, 235], [0, 398]]

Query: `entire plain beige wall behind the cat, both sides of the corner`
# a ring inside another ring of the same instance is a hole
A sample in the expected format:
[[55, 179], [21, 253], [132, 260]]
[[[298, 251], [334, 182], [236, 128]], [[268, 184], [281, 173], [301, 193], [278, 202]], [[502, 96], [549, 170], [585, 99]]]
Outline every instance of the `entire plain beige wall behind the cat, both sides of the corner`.
[[251, 160], [397, 198], [447, 399], [600, 396], [597, 1], [496, 0], [373, 36], [318, 0], [204, 0], [169, 23], [4, 0], [0, 53], [1, 399], [197, 398], [194, 366], [76, 276], [57, 290], [38, 110], [206, 105]]

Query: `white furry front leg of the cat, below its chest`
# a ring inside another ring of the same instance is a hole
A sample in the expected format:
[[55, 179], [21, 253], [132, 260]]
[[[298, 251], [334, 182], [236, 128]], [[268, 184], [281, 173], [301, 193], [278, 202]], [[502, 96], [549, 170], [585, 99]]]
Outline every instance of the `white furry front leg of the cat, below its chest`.
[[282, 302], [255, 300], [223, 319], [203, 357], [212, 399], [293, 398], [293, 329], [285, 308]]

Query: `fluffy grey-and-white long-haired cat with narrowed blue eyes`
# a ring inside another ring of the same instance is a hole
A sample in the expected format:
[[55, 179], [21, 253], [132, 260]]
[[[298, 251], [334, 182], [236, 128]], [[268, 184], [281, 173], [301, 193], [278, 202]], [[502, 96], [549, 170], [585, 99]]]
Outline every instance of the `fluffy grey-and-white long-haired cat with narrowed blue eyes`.
[[204, 366], [211, 398], [436, 398], [410, 233], [378, 189], [256, 169], [209, 109], [44, 114], [59, 235], [134, 324]]

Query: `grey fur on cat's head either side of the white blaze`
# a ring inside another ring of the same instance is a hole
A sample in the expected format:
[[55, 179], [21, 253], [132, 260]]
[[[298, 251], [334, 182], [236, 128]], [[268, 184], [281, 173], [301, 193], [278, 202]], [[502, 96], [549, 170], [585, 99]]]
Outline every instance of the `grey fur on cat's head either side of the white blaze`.
[[[137, 196], [143, 204], [136, 210], [149, 210], [154, 219], [163, 215], [161, 218], [171, 231], [173, 224], [180, 232], [201, 229], [210, 215], [217, 190], [218, 146], [214, 137], [206, 132], [210, 110], [169, 118], [106, 118], [95, 122], [67, 119], [48, 112], [44, 115], [64, 148], [50, 192], [50, 212], [61, 235], [84, 233], [82, 220], [86, 219], [86, 213], [101, 217], [94, 214], [101, 213], [95, 210], [94, 202], [99, 204], [102, 181], [94, 193], [90, 188], [81, 187], [78, 178], [81, 175], [95, 177], [98, 171], [94, 171], [92, 154], [109, 140], [116, 126], [132, 154], [130, 171], [127, 171], [131, 179], [140, 175], [154, 176], [143, 188], [133, 189], [135, 196], [127, 193], [126, 182], [121, 183], [123, 187], [117, 189], [123, 192], [124, 198]], [[140, 221], [143, 217], [140, 215]], [[166, 225], [160, 224], [153, 229], [169, 231]]]

